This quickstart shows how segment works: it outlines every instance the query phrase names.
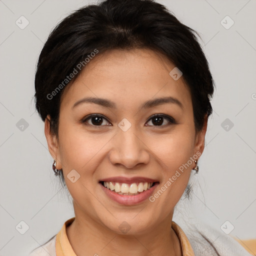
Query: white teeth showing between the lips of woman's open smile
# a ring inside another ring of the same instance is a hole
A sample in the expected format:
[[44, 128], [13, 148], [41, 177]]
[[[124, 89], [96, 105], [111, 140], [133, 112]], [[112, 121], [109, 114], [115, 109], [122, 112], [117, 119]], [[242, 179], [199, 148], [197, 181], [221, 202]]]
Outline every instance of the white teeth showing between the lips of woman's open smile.
[[150, 189], [152, 186], [159, 182], [136, 182], [127, 184], [111, 181], [99, 181], [99, 183], [107, 189], [116, 192], [117, 194], [136, 195]]

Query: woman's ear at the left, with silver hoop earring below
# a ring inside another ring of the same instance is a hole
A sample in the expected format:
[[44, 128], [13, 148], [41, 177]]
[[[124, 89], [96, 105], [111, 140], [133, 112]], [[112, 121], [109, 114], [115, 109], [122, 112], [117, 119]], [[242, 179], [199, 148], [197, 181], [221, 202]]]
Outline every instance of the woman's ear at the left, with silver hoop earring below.
[[44, 134], [47, 140], [49, 152], [54, 160], [56, 160], [56, 168], [61, 169], [61, 162], [58, 157], [58, 141], [56, 135], [53, 135], [50, 131], [50, 115], [48, 114], [44, 120]]

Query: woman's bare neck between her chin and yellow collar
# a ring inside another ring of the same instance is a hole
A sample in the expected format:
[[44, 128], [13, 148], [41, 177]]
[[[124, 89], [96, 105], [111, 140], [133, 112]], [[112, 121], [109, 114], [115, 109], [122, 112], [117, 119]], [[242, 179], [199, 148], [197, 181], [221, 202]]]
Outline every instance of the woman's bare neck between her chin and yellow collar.
[[171, 228], [171, 216], [140, 234], [118, 234], [86, 216], [77, 216], [66, 227], [67, 238], [77, 256], [133, 255], [181, 256], [179, 239]]

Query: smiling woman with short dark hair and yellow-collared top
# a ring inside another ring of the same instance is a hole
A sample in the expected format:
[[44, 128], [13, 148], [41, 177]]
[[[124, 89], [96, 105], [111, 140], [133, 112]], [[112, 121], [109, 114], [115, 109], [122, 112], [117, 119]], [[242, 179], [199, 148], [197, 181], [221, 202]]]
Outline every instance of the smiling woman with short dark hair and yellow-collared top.
[[36, 109], [75, 217], [30, 255], [250, 255], [222, 233], [172, 221], [212, 111], [195, 34], [151, 0], [85, 6], [51, 32]]

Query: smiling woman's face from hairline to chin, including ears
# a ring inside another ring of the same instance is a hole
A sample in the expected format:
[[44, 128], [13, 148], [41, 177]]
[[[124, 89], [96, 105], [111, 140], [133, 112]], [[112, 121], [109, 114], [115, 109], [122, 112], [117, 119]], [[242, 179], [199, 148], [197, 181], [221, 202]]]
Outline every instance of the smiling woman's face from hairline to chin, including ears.
[[46, 121], [45, 135], [78, 221], [142, 234], [171, 220], [206, 129], [205, 120], [195, 133], [191, 95], [182, 76], [169, 74], [173, 68], [149, 49], [111, 50], [65, 88], [58, 139]]

